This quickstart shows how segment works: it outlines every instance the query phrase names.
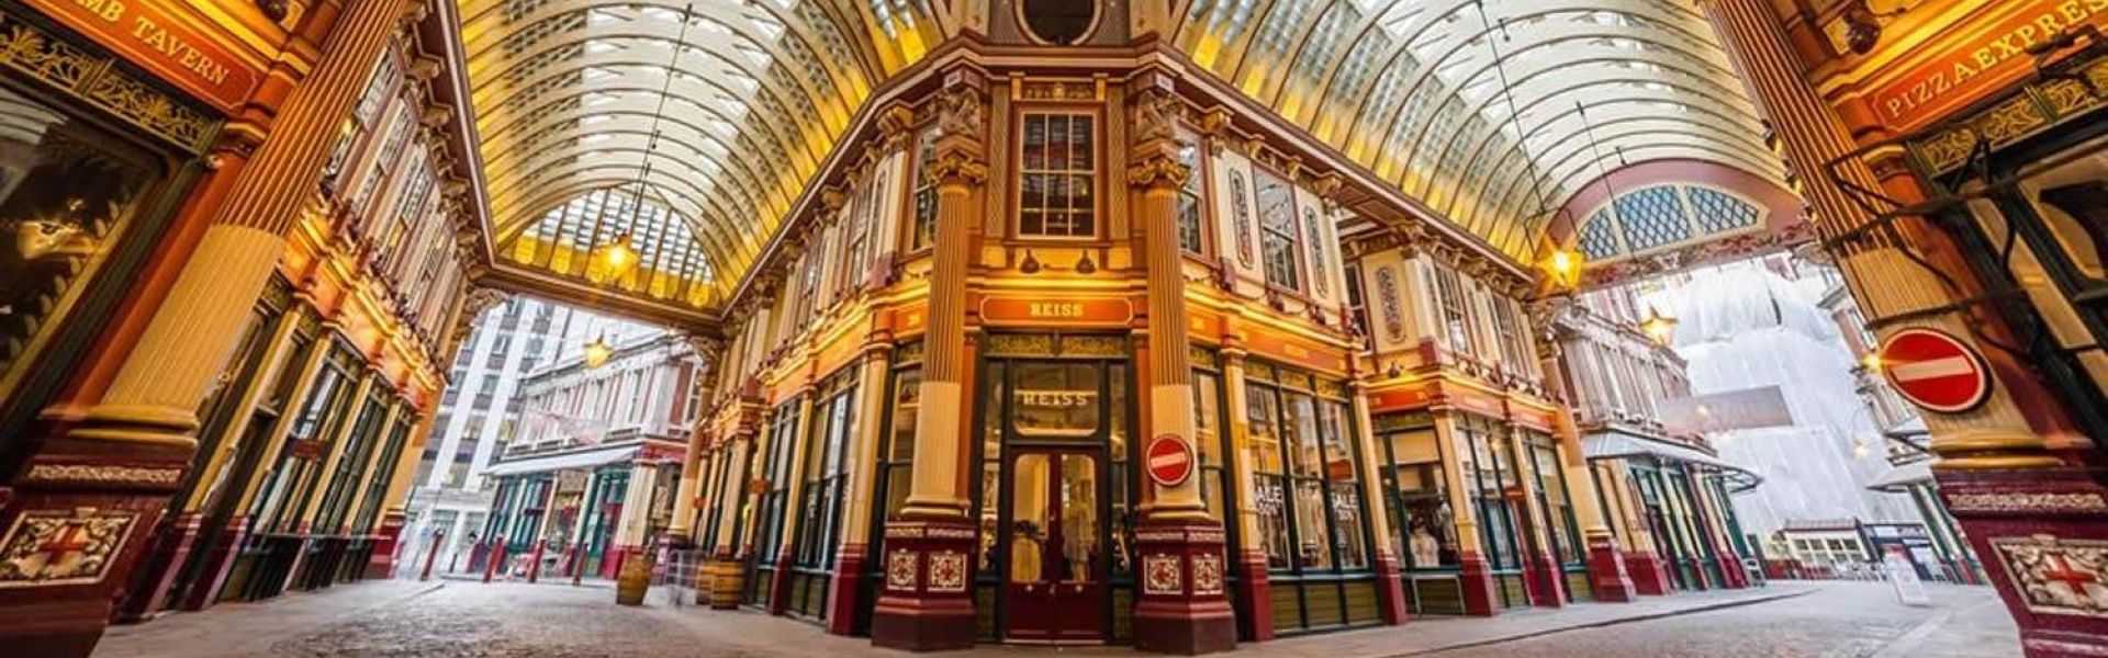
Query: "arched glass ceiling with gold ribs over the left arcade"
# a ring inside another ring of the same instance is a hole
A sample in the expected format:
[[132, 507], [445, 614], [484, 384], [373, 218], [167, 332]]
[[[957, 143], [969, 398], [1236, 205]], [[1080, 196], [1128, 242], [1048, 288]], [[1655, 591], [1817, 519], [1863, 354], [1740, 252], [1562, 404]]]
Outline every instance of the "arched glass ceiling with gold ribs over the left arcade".
[[[746, 274], [873, 86], [940, 40], [930, 0], [460, 2], [500, 259], [698, 308]], [[643, 205], [561, 230], [639, 183]], [[691, 245], [656, 245], [677, 257], [653, 276], [550, 268], [622, 236]]]

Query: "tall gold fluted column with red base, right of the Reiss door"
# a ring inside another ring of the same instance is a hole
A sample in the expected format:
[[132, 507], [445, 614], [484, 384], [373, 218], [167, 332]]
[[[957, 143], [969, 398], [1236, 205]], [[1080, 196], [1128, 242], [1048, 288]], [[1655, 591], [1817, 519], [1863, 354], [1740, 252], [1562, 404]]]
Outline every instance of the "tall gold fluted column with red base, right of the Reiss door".
[[[1149, 72], [1132, 82], [1128, 186], [1143, 232], [1149, 270], [1149, 439], [1145, 472], [1151, 498], [1134, 529], [1140, 557], [1134, 603], [1134, 647], [1166, 654], [1212, 654], [1237, 647], [1229, 607], [1223, 519], [1199, 496], [1199, 453], [1193, 449], [1193, 356], [1187, 352], [1185, 255], [1178, 249], [1178, 188], [1193, 171], [1178, 162], [1176, 122], [1185, 101], [1172, 80]], [[1159, 479], [1159, 462], [1185, 462], [1176, 481]]]

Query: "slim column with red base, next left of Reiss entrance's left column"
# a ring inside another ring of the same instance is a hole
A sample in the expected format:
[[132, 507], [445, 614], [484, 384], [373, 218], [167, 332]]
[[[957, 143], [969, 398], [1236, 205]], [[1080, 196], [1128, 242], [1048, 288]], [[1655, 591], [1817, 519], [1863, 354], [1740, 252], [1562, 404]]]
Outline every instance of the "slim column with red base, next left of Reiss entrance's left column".
[[[887, 426], [885, 382], [894, 373], [894, 335], [883, 323], [873, 321], [871, 335], [864, 337], [864, 363], [856, 382], [856, 434], [850, 437], [850, 483], [841, 519], [841, 550], [835, 553], [835, 576], [828, 580], [826, 633], [850, 635], [856, 631], [856, 609], [864, 605], [864, 569], [871, 546], [871, 515], [885, 508], [885, 498], [873, 491], [877, 483], [879, 445]], [[873, 491], [862, 496], [862, 491]]]

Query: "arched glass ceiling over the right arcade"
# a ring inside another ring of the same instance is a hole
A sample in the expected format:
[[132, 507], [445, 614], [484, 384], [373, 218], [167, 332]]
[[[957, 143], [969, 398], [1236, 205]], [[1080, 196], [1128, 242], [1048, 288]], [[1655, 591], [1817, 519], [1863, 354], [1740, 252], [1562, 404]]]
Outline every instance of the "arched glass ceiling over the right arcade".
[[1678, 0], [1191, 0], [1174, 42], [1518, 259], [1547, 209], [1623, 164], [1783, 177]]

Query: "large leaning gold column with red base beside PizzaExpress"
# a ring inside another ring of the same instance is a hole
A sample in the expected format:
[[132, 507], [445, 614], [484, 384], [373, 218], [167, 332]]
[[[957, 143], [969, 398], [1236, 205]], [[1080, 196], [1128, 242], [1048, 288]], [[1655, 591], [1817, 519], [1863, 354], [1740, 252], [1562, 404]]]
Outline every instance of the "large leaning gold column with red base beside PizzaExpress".
[[[1969, 268], [1946, 268], [1944, 274], [1967, 287], [1965, 293], [1950, 293], [1939, 274], [1918, 264], [1927, 255], [1952, 262], [1939, 221], [1876, 226], [1832, 179], [1893, 190], [1868, 162], [1851, 156], [1851, 131], [1807, 80], [1811, 65], [1794, 49], [1775, 6], [1764, 0], [1699, 4], [1720, 32], [1750, 97], [1777, 131], [1788, 164], [1802, 173], [1802, 194], [1868, 325], [1882, 340], [1906, 329], [1941, 331], [1975, 346], [1988, 363], [1994, 386], [1982, 405], [1960, 413], [1927, 409], [1922, 415], [1933, 437], [1929, 447], [1939, 456], [1933, 464], [1939, 496], [2019, 622], [2022, 647], [2028, 656], [2108, 654], [2108, 616], [2097, 614], [2097, 597], [2085, 609], [2070, 603], [2089, 597], [2093, 586], [2083, 582], [2108, 578], [2108, 567], [2102, 567], [2108, 489], [2087, 468], [2066, 466], [2030, 426], [2030, 420], [2060, 424], [2062, 418], [2049, 415], [2062, 409], [2045, 409], [2043, 401], [2053, 396], [2043, 392], [2028, 363], [1977, 337], [2000, 333], [1996, 310], [1954, 304], [1954, 297], [1982, 289]], [[2003, 337], [2011, 342], [2011, 335]], [[2030, 399], [2034, 418], [2015, 403], [2019, 396]]]

